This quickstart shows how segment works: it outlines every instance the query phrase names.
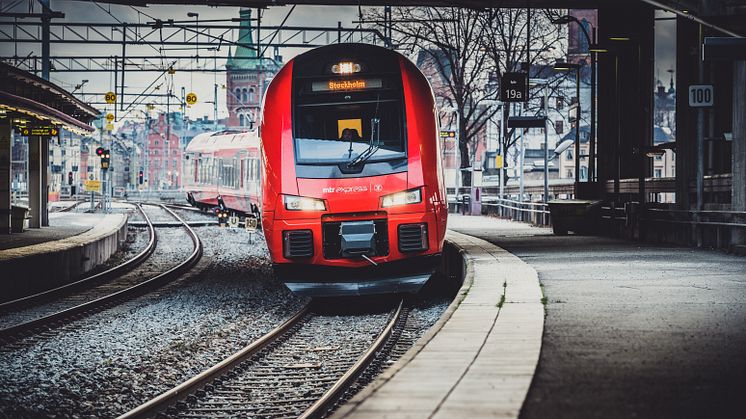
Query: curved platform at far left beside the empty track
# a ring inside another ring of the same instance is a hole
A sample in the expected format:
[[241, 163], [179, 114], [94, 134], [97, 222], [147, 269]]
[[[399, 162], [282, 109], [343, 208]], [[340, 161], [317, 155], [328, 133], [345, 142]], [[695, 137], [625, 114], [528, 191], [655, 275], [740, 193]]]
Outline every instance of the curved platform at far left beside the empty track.
[[126, 235], [126, 214], [74, 212], [50, 213], [49, 227], [0, 235], [0, 300], [78, 278], [114, 254]]

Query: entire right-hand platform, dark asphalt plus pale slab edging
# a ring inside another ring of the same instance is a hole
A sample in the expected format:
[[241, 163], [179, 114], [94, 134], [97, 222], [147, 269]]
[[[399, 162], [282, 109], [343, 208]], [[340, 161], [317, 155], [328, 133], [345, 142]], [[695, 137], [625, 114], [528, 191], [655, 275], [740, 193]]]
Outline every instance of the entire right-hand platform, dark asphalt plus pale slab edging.
[[[472, 285], [460, 292], [468, 294], [437, 333], [336, 417], [741, 415], [742, 256], [554, 236], [491, 217], [452, 214], [448, 225], [449, 240], [473, 265]], [[545, 297], [541, 315], [528, 308], [539, 298], [534, 271]], [[502, 278], [506, 299], [497, 310], [490, 305], [499, 303]], [[467, 273], [465, 287], [468, 280]], [[516, 283], [525, 287], [520, 299], [511, 292]]]

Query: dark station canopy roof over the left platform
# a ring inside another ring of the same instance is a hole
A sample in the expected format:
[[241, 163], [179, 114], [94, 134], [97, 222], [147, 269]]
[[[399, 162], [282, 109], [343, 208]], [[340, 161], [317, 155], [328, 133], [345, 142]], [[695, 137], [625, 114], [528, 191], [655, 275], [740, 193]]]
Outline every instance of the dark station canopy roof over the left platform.
[[89, 123], [99, 115], [56, 84], [5, 63], [0, 63], [0, 109], [78, 133], [94, 131]]

